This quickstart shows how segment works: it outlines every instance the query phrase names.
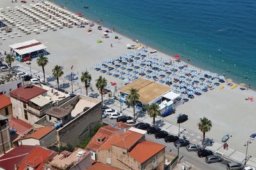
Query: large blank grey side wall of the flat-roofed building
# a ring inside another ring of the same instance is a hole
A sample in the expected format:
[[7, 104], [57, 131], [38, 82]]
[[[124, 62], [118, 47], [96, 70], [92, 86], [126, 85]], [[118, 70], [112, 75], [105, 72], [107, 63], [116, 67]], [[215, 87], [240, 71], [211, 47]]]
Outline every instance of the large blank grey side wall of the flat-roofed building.
[[93, 108], [90, 108], [58, 129], [57, 141], [76, 146], [90, 136], [90, 129], [102, 120], [101, 102], [97, 101], [98, 103]]

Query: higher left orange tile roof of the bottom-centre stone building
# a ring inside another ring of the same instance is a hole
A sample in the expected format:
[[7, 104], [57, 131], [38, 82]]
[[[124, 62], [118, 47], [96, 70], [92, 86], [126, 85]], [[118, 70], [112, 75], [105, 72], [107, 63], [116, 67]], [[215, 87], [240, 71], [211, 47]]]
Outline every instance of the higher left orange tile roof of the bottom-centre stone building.
[[129, 148], [136, 144], [143, 136], [143, 134], [129, 130], [123, 133], [116, 132], [106, 143], [100, 146], [99, 150], [108, 150], [112, 145], [129, 150]]

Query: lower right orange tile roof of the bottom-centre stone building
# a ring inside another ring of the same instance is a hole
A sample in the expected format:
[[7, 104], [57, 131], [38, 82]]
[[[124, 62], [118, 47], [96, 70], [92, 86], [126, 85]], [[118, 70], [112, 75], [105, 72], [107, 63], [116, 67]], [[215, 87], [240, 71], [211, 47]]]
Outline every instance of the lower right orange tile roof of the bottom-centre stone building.
[[156, 155], [156, 153], [163, 150], [165, 147], [166, 146], [154, 143], [152, 141], [143, 141], [132, 148], [129, 155], [142, 164], [146, 160]]

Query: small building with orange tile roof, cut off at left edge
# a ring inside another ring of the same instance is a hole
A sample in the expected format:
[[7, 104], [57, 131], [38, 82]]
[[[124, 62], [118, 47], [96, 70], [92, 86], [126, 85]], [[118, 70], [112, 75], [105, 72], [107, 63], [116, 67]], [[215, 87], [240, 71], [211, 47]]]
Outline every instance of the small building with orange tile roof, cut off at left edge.
[[11, 99], [4, 94], [0, 95], [0, 114], [9, 119], [12, 117]]

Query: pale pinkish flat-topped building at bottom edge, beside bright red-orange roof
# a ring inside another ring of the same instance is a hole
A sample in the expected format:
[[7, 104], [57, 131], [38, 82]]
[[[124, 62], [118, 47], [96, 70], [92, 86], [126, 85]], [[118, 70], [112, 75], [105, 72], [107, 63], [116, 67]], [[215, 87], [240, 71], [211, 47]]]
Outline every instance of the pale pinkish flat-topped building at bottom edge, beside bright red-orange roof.
[[90, 152], [77, 148], [74, 152], [63, 151], [48, 162], [45, 162], [45, 170], [84, 170], [92, 166]]

